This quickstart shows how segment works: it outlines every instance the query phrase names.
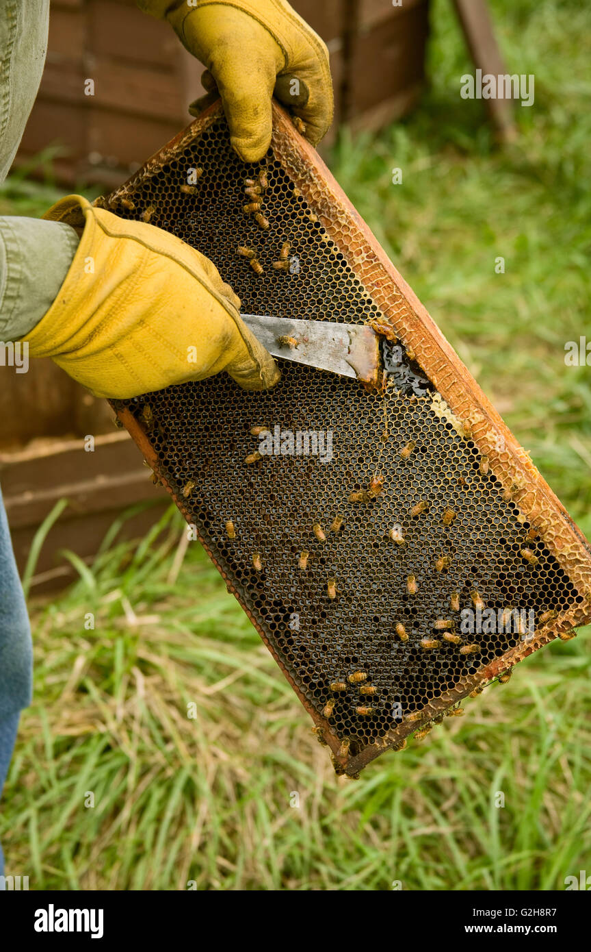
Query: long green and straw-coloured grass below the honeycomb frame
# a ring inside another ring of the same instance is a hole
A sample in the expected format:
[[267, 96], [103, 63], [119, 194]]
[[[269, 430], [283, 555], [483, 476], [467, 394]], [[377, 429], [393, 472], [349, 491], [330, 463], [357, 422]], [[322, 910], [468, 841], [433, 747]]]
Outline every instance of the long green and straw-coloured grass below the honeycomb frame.
[[557, 889], [585, 868], [588, 640], [337, 779], [200, 547], [179, 567], [183, 534], [169, 510], [34, 612], [37, 701], [2, 823], [31, 888]]

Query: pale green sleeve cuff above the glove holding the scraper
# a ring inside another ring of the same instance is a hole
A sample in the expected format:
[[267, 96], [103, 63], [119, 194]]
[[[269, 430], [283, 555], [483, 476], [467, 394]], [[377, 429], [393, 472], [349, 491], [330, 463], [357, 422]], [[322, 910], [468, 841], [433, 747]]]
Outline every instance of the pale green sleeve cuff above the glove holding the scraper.
[[47, 313], [78, 241], [62, 222], [0, 217], [0, 342], [28, 334]]

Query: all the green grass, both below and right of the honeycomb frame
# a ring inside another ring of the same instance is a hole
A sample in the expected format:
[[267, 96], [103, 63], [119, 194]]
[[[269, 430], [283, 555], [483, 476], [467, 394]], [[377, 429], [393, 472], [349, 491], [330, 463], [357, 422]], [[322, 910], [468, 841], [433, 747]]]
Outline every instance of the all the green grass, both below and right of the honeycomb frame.
[[[591, 336], [581, 6], [491, 3], [510, 71], [536, 76], [521, 140], [499, 151], [479, 104], [458, 98], [469, 66], [439, 0], [429, 95], [405, 123], [345, 137], [334, 171], [591, 534], [591, 371], [563, 364], [565, 341]], [[38, 209], [20, 213], [44, 208], [30, 188]], [[336, 779], [216, 570], [197, 545], [181, 559], [178, 514], [135, 548], [116, 529], [76, 585], [33, 605], [35, 703], [0, 820], [8, 872], [56, 889], [551, 890], [588, 869], [589, 629], [423, 744]]]

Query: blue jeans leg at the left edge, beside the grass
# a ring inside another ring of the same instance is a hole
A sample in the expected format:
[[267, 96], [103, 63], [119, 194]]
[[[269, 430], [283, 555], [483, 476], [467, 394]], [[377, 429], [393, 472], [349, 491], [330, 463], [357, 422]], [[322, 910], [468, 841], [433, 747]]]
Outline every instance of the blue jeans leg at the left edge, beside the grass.
[[[30, 704], [31, 674], [29, 617], [0, 493], [0, 793], [9, 770], [19, 712]], [[3, 873], [0, 847], [0, 875]]]

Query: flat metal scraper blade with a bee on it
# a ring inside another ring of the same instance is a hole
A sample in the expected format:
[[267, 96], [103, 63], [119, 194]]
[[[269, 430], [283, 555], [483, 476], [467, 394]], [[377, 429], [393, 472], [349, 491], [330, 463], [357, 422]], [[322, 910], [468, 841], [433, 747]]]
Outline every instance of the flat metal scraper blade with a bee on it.
[[374, 382], [380, 366], [379, 341], [372, 327], [335, 321], [298, 321], [266, 314], [242, 314], [263, 347], [283, 360]]

